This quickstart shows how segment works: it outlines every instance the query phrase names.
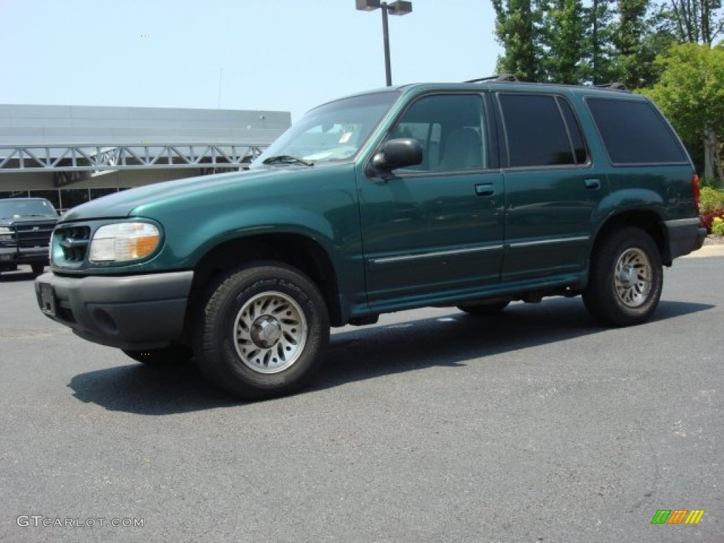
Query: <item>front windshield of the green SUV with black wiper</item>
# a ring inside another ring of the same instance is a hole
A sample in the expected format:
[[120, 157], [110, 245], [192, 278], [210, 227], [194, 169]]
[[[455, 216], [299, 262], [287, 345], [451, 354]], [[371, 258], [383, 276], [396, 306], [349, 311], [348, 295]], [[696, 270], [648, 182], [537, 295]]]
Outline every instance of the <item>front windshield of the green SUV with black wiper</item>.
[[349, 160], [398, 96], [397, 91], [385, 91], [344, 98], [312, 109], [261, 153], [251, 167], [311, 166]]

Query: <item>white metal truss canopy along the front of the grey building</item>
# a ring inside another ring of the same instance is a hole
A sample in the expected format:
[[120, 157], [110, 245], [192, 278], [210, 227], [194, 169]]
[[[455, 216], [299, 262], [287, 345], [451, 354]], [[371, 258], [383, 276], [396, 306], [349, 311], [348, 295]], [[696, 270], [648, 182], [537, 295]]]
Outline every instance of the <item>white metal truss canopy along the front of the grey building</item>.
[[52, 172], [55, 185], [62, 186], [122, 169], [245, 169], [264, 148], [264, 143], [201, 142], [0, 146], [0, 174]]

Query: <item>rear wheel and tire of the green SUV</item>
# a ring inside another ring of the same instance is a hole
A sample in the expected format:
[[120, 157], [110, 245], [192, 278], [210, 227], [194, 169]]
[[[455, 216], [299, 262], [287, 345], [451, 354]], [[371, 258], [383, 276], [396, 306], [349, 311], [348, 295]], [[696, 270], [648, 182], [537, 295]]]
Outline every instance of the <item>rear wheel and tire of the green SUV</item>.
[[647, 321], [663, 285], [661, 255], [654, 240], [639, 228], [608, 235], [591, 262], [586, 309], [603, 324], [631, 326]]

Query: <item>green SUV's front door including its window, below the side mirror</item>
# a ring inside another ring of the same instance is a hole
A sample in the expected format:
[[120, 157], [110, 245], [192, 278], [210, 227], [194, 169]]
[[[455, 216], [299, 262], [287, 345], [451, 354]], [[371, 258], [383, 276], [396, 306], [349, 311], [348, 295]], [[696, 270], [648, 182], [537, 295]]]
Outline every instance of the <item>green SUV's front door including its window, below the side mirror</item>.
[[502, 175], [491, 169], [479, 93], [418, 98], [390, 130], [416, 138], [422, 164], [388, 180], [359, 181], [369, 302], [425, 305], [497, 285], [502, 261]]

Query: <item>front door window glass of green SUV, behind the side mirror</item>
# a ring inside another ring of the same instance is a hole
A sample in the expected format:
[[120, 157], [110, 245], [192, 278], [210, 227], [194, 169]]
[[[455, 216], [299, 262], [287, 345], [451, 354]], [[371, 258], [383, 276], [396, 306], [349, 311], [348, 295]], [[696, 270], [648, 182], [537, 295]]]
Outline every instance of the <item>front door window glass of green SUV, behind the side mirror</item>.
[[423, 161], [416, 171], [455, 172], [488, 167], [483, 103], [478, 94], [424, 96], [403, 113], [390, 138], [415, 138]]

